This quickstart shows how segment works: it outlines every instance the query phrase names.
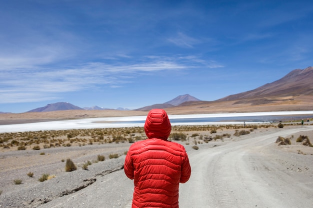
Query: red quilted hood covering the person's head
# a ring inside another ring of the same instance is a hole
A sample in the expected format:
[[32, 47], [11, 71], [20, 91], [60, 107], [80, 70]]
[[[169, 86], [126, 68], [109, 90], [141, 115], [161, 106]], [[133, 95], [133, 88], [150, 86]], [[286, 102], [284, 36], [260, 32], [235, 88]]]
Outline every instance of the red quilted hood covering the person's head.
[[152, 109], [149, 111], [145, 124], [145, 135], [150, 138], [167, 139], [171, 126], [167, 113], [163, 109]]

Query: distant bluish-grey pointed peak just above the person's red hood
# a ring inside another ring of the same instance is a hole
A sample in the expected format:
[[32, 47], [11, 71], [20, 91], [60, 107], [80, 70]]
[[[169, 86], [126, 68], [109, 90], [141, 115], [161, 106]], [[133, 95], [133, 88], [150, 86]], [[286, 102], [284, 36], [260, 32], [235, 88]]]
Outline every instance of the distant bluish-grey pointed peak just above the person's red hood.
[[165, 103], [162, 103], [162, 104], [149, 105], [149, 106], [145, 106], [142, 108], [138, 108], [136, 110], [138, 110], [138, 111], [149, 111], [153, 108], [170, 108], [170, 107], [178, 106], [184, 102], [190, 102], [190, 101], [200, 101], [200, 100], [193, 97], [193, 96], [185, 94], [185, 95], [179, 95], [179, 96], [175, 97], [174, 99], [167, 101]]

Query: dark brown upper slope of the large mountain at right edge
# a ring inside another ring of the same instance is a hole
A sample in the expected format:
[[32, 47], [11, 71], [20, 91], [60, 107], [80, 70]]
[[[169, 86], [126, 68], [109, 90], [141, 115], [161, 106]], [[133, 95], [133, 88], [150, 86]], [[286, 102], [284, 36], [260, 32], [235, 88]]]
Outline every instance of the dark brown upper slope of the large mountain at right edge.
[[281, 79], [254, 90], [229, 95], [216, 100], [248, 102], [251, 104], [273, 102], [277, 98], [293, 99], [294, 96], [313, 95], [313, 67], [295, 69]]

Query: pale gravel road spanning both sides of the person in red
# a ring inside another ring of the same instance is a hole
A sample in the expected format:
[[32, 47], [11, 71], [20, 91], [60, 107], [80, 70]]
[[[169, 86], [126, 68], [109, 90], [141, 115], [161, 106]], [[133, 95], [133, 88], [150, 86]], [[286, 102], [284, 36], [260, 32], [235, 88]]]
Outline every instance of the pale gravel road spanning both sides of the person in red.
[[[264, 129], [199, 145], [199, 150], [185, 146], [192, 173], [180, 185], [179, 208], [311, 208], [312, 154], [275, 144], [278, 136], [305, 131], [313, 131], [313, 126]], [[130, 208], [133, 182], [121, 169], [124, 157], [3, 192], [0, 208]], [[67, 193], [60, 196], [62, 189]]]

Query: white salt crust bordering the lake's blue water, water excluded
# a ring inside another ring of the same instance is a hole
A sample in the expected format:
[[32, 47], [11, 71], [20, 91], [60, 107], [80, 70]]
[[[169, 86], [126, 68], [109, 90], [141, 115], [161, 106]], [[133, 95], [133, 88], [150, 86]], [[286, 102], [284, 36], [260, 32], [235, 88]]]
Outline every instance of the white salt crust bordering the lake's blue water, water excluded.
[[[172, 125], [212, 125], [212, 124], [235, 124], [238, 122], [172, 122], [173, 119], [190, 118], [222, 118], [222, 117], [244, 117], [244, 116], [281, 116], [281, 115], [312, 115], [313, 111], [275, 111], [275, 112], [250, 112], [250, 113], [213, 113], [213, 114], [187, 114], [168, 115]], [[46, 121], [25, 124], [0, 125], [0, 133], [24, 132], [40, 130], [66, 130], [66, 129], [92, 129], [92, 128], [119, 128], [119, 127], [142, 127], [146, 116], [120, 116], [103, 118], [85, 118]], [[142, 122], [141, 122], [142, 121]], [[242, 122], [240, 122], [242, 123]], [[246, 122], [253, 123], [253, 122]]]

